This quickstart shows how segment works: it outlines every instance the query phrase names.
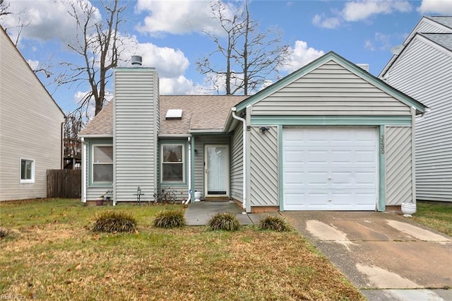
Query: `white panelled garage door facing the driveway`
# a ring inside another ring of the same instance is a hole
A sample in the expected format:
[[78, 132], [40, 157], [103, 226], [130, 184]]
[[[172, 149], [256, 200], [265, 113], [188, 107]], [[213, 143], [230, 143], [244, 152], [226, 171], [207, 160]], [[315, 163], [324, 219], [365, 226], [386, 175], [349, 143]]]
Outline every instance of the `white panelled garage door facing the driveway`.
[[375, 210], [374, 128], [283, 129], [285, 211]]

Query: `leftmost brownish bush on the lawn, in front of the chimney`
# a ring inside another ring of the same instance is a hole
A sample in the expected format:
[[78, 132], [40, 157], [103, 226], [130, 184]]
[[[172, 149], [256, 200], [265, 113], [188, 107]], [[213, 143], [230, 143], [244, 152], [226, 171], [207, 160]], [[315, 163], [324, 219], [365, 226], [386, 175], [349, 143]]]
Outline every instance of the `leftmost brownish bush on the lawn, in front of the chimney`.
[[129, 213], [107, 211], [96, 219], [94, 232], [134, 232], [136, 220]]

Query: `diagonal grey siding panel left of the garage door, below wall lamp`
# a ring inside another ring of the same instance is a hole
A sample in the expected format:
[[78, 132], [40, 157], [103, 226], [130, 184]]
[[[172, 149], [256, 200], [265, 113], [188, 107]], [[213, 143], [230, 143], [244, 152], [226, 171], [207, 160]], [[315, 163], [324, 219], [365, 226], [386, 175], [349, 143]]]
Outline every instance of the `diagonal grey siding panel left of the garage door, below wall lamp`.
[[269, 127], [265, 134], [259, 127], [251, 127], [250, 142], [251, 206], [277, 206], [278, 127]]

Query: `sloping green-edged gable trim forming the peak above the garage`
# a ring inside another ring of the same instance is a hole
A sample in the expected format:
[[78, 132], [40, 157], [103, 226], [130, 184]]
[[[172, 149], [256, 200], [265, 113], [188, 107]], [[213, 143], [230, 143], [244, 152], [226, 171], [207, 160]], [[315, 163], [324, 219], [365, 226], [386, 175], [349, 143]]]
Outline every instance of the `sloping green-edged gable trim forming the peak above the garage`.
[[263, 100], [263, 98], [266, 98], [269, 95], [272, 95], [273, 93], [277, 92], [281, 88], [284, 88], [285, 86], [289, 85], [290, 83], [297, 81], [298, 78], [301, 78], [302, 76], [306, 75], [307, 73], [310, 73], [314, 69], [317, 69], [319, 66], [326, 64], [326, 62], [328, 61], [335, 61], [335, 63], [340, 64], [340, 66], [343, 66], [343, 68], [354, 73], [356, 76], [359, 76], [360, 78], [362, 78], [364, 81], [367, 81], [371, 85], [374, 85], [376, 88], [383, 90], [383, 92], [387, 93], [388, 95], [391, 95], [393, 98], [396, 98], [400, 102], [403, 102], [405, 105], [409, 107], [415, 107], [417, 114], [423, 113], [425, 111], [425, 106], [422, 105], [422, 103], [418, 102], [413, 98], [410, 98], [410, 96], [405, 95], [399, 90], [396, 90], [395, 88], [391, 87], [391, 85], [384, 83], [379, 78], [376, 78], [375, 76], [371, 75], [371, 73], [364, 71], [359, 66], [353, 64], [350, 61], [347, 61], [347, 59], [344, 59], [343, 57], [340, 57], [339, 54], [336, 54], [335, 52], [328, 52], [327, 54], [324, 54], [322, 57], [319, 57], [319, 59], [311, 61], [311, 63], [307, 64], [306, 66], [303, 66], [297, 71], [290, 73], [288, 76], [285, 76], [280, 81], [273, 83], [273, 85], [268, 86], [267, 88], [259, 91], [255, 95], [252, 95], [246, 100], [240, 102], [236, 106], [237, 112], [244, 110], [249, 105], [254, 105], [254, 103]]

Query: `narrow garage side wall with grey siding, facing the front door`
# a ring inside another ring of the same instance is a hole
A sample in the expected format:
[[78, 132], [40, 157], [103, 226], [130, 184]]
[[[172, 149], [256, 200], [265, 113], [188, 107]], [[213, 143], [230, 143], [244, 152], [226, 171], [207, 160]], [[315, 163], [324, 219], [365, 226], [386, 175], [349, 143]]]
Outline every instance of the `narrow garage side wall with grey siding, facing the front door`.
[[234, 129], [231, 150], [231, 196], [243, 201], [243, 127], [239, 124]]

